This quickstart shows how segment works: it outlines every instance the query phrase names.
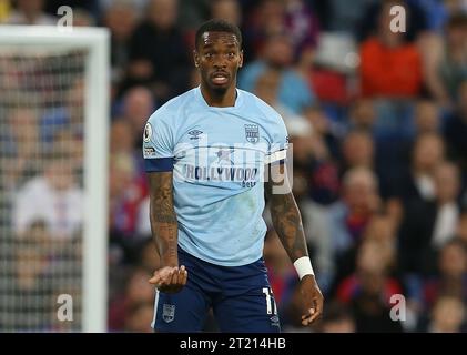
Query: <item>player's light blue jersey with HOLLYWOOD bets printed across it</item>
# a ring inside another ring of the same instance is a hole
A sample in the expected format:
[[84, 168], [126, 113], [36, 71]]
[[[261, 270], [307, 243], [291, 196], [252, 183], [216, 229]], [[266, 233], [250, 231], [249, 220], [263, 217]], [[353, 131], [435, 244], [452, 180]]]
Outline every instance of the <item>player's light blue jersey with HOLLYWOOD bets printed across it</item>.
[[237, 90], [234, 106], [207, 105], [200, 88], [148, 120], [148, 172], [172, 171], [179, 246], [212, 264], [241, 266], [263, 253], [264, 166], [285, 159], [281, 115]]

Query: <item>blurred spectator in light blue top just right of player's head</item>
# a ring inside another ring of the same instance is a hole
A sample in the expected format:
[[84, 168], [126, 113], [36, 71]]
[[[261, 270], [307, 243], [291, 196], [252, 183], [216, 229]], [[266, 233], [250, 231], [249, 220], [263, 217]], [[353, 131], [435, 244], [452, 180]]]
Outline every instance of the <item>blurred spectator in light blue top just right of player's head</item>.
[[314, 103], [313, 93], [306, 83], [293, 69], [293, 45], [285, 34], [274, 34], [265, 43], [262, 59], [255, 60], [243, 68], [238, 75], [238, 85], [246, 91], [253, 91], [258, 78], [268, 69], [281, 72], [277, 101], [293, 111], [302, 114]]

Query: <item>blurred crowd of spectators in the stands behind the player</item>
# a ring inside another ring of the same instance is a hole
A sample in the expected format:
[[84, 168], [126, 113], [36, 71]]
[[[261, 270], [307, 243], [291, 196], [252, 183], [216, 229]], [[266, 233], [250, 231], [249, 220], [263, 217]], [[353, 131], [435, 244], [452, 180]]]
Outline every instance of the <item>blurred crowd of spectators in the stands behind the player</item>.
[[[325, 312], [317, 325], [300, 325], [297, 276], [266, 212], [264, 257], [283, 329], [467, 331], [467, 1], [0, 0], [0, 23], [54, 26], [62, 4], [72, 7], [74, 26], [111, 32], [109, 331], [150, 331], [148, 276], [159, 260], [142, 130], [156, 108], [199, 84], [191, 52], [210, 18], [242, 29], [238, 87], [282, 114], [293, 145], [293, 190]], [[390, 30], [394, 6], [406, 10], [405, 32]], [[51, 126], [82, 115], [82, 94], [77, 79], [67, 105], [35, 129], [28, 110], [2, 123], [11, 131], [2, 184], [18, 192], [16, 233], [42, 222], [60, 240], [81, 226], [67, 206], [80, 209], [83, 199], [82, 132]], [[71, 141], [73, 150], [37, 166], [29, 144], [37, 136]], [[57, 164], [71, 155], [77, 168]], [[44, 211], [39, 221], [28, 214], [34, 203]], [[396, 294], [405, 296], [404, 322], [390, 318]], [[206, 329], [215, 331], [211, 318]]]

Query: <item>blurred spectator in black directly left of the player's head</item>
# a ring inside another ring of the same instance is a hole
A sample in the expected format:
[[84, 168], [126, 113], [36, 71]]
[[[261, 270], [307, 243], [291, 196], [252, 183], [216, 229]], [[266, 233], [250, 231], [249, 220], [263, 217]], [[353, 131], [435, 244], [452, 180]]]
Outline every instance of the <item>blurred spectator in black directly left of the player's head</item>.
[[150, 0], [148, 18], [130, 41], [129, 77], [123, 89], [144, 83], [164, 103], [187, 89], [191, 59], [177, 19], [177, 0]]

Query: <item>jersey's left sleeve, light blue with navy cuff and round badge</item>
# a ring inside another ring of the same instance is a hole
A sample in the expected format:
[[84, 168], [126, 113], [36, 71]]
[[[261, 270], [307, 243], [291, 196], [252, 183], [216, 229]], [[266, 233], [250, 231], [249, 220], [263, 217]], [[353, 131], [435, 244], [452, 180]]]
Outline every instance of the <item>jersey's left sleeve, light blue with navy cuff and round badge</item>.
[[146, 172], [173, 170], [173, 134], [161, 116], [153, 114], [144, 126], [143, 158]]

